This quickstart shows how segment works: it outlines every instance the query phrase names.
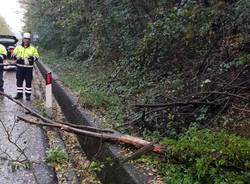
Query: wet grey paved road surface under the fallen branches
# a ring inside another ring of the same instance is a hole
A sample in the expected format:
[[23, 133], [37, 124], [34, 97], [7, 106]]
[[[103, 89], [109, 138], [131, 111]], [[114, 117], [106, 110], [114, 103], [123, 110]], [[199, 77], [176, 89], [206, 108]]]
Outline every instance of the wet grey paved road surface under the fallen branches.
[[[5, 93], [14, 96], [15, 72], [6, 72], [4, 81]], [[30, 102], [25, 100], [23, 103], [30, 105]], [[16, 115], [24, 115], [24, 111], [7, 98], [0, 97], [0, 120], [11, 132], [9, 136], [11, 140], [17, 140], [16, 144], [25, 149], [32, 166], [30, 169], [25, 169], [24, 164], [20, 164], [18, 168], [18, 164], [13, 162], [18, 159], [20, 152], [10, 143], [4, 126], [0, 123], [0, 184], [56, 184], [55, 173], [44, 162], [47, 144], [43, 131], [22, 122], [13, 126]], [[21, 156], [19, 160], [23, 158], [24, 156]]]

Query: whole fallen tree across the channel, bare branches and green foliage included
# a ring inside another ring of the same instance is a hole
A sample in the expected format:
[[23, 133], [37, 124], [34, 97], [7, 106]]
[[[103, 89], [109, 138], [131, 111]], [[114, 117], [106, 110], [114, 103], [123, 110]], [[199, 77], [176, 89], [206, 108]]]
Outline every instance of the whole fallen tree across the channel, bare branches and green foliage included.
[[[129, 155], [128, 157], [123, 158], [121, 160], [122, 163], [138, 159], [141, 155], [153, 151], [155, 153], [160, 153], [164, 155], [163, 160], [165, 161], [167, 160], [171, 162], [173, 161], [174, 163], [182, 165], [183, 164], [190, 165], [192, 163], [197, 164], [196, 162], [198, 162], [199, 160], [197, 160], [196, 157], [199, 159], [203, 154], [204, 155], [206, 154], [207, 158], [211, 157], [211, 161], [209, 161], [208, 163], [209, 167], [221, 167], [236, 172], [248, 172], [250, 169], [248, 164], [250, 155], [249, 152], [244, 151], [249, 147], [247, 140], [244, 138], [236, 137], [234, 135], [225, 134], [224, 132], [222, 133], [215, 133], [212, 131], [206, 132], [205, 130], [198, 131], [198, 129], [195, 129], [195, 131], [193, 131], [193, 129], [191, 128], [191, 130], [189, 130], [185, 134], [185, 136], [180, 136], [180, 138], [177, 140], [166, 138], [162, 142], [163, 144], [159, 145], [156, 144], [155, 142], [145, 141], [138, 137], [121, 134], [115, 130], [98, 129], [88, 126], [71, 125], [68, 123], [56, 122], [42, 116], [35, 110], [25, 106], [20, 101], [13, 99], [11, 96], [5, 93], [0, 92], [0, 95], [7, 97], [9, 100], [13, 101], [14, 103], [18, 104], [26, 111], [28, 111], [30, 115], [38, 118], [38, 120], [34, 120], [34, 118], [31, 117], [27, 118], [27, 117], [17, 116], [17, 120], [36, 126], [47, 126], [51, 128], [58, 128], [60, 130], [71, 132], [77, 135], [100, 138], [102, 141], [125, 143], [140, 148], [139, 150]], [[39, 120], [42, 120], [42, 122]], [[192, 139], [190, 141], [191, 134], [197, 136], [197, 139], [194, 140]], [[203, 135], [205, 137], [202, 137]], [[217, 148], [215, 149], [213, 145], [214, 141], [211, 137], [216, 138], [217, 141], [220, 141], [221, 145], [220, 147], [218, 147], [218, 149]], [[200, 147], [202, 147], [202, 145], [204, 145], [206, 141], [211, 142], [206, 144], [207, 147], [211, 146], [211, 148], [204, 148], [205, 149], [204, 153], [201, 153], [199, 149], [196, 149], [196, 145], [200, 145]], [[241, 144], [243, 147], [239, 148], [238, 144]], [[237, 147], [238, 151], [237, 149], [232, 147], [232, 145], [234, 145], [235, 148]], [[230, 149], [232, 152], [235, 152], [234, 157], [230, 155], [231, 151], [230, 152], [224, 151], [227, 149]], [[243, 150], [243, 152], [239, 151], [239, 149]], [[187, 158], [192, 158], [192, 159], [190, 160]], [[221, 162], [221, 160], [225, 160], [225, 162]]]

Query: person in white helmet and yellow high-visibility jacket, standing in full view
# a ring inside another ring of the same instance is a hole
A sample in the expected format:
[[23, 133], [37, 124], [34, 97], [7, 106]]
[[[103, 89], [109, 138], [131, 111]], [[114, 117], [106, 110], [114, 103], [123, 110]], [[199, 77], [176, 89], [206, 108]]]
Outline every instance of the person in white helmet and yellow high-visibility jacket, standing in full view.
[[30, 33], [24, 33], [22, 45], [17, 46], [13, 52], [17, 65], [17, 95], [14, 97], [15, 99], [23, 98], [23, 81], [26, 83], [26, 100], [30, 100], [31, 97], [33, 65], [38, 60], [39, 54], [37, 49], [30, 44], [30, 37]]

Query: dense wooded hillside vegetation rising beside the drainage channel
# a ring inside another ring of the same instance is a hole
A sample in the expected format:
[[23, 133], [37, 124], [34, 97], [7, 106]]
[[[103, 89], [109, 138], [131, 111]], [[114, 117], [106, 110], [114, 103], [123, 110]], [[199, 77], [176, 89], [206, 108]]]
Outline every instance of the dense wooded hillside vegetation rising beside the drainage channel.
[[249, 0], [21, 1], [43, 61], [82, 106], [166, 137], [167, 183], [250, 181], [249, 139], [207, 130], [249, 136]]

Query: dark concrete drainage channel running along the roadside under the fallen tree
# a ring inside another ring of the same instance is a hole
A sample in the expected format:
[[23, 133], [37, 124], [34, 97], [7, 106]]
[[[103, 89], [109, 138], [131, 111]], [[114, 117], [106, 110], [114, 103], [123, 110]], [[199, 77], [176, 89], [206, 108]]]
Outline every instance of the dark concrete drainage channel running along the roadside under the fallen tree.
[[[37, 67], [43, 76], [49, 72], [49, 69], [41, 62], [37, 62]], [[77, 105], [77, 98], [70, 91], [66, 91], [63, 88], [55, 74], [53, 74], [52, 91], [68, 122], [88, 126], [96, 126], [98, 124], [98, 120], [95, 120]], [[78, 141], [90, 159], [95, 157], [100, 161], [106, 158], [115, 160], [118, 158], [119, 151], [121, 151], [118, 146], [102, 143], [97, 138], [78, 136]], [[106, 165], [97, 175], [104, 184], [148, 183], [147, 175], [132, 166], [132, 164], [120, 164], [117, 162], [112, 166]]]

